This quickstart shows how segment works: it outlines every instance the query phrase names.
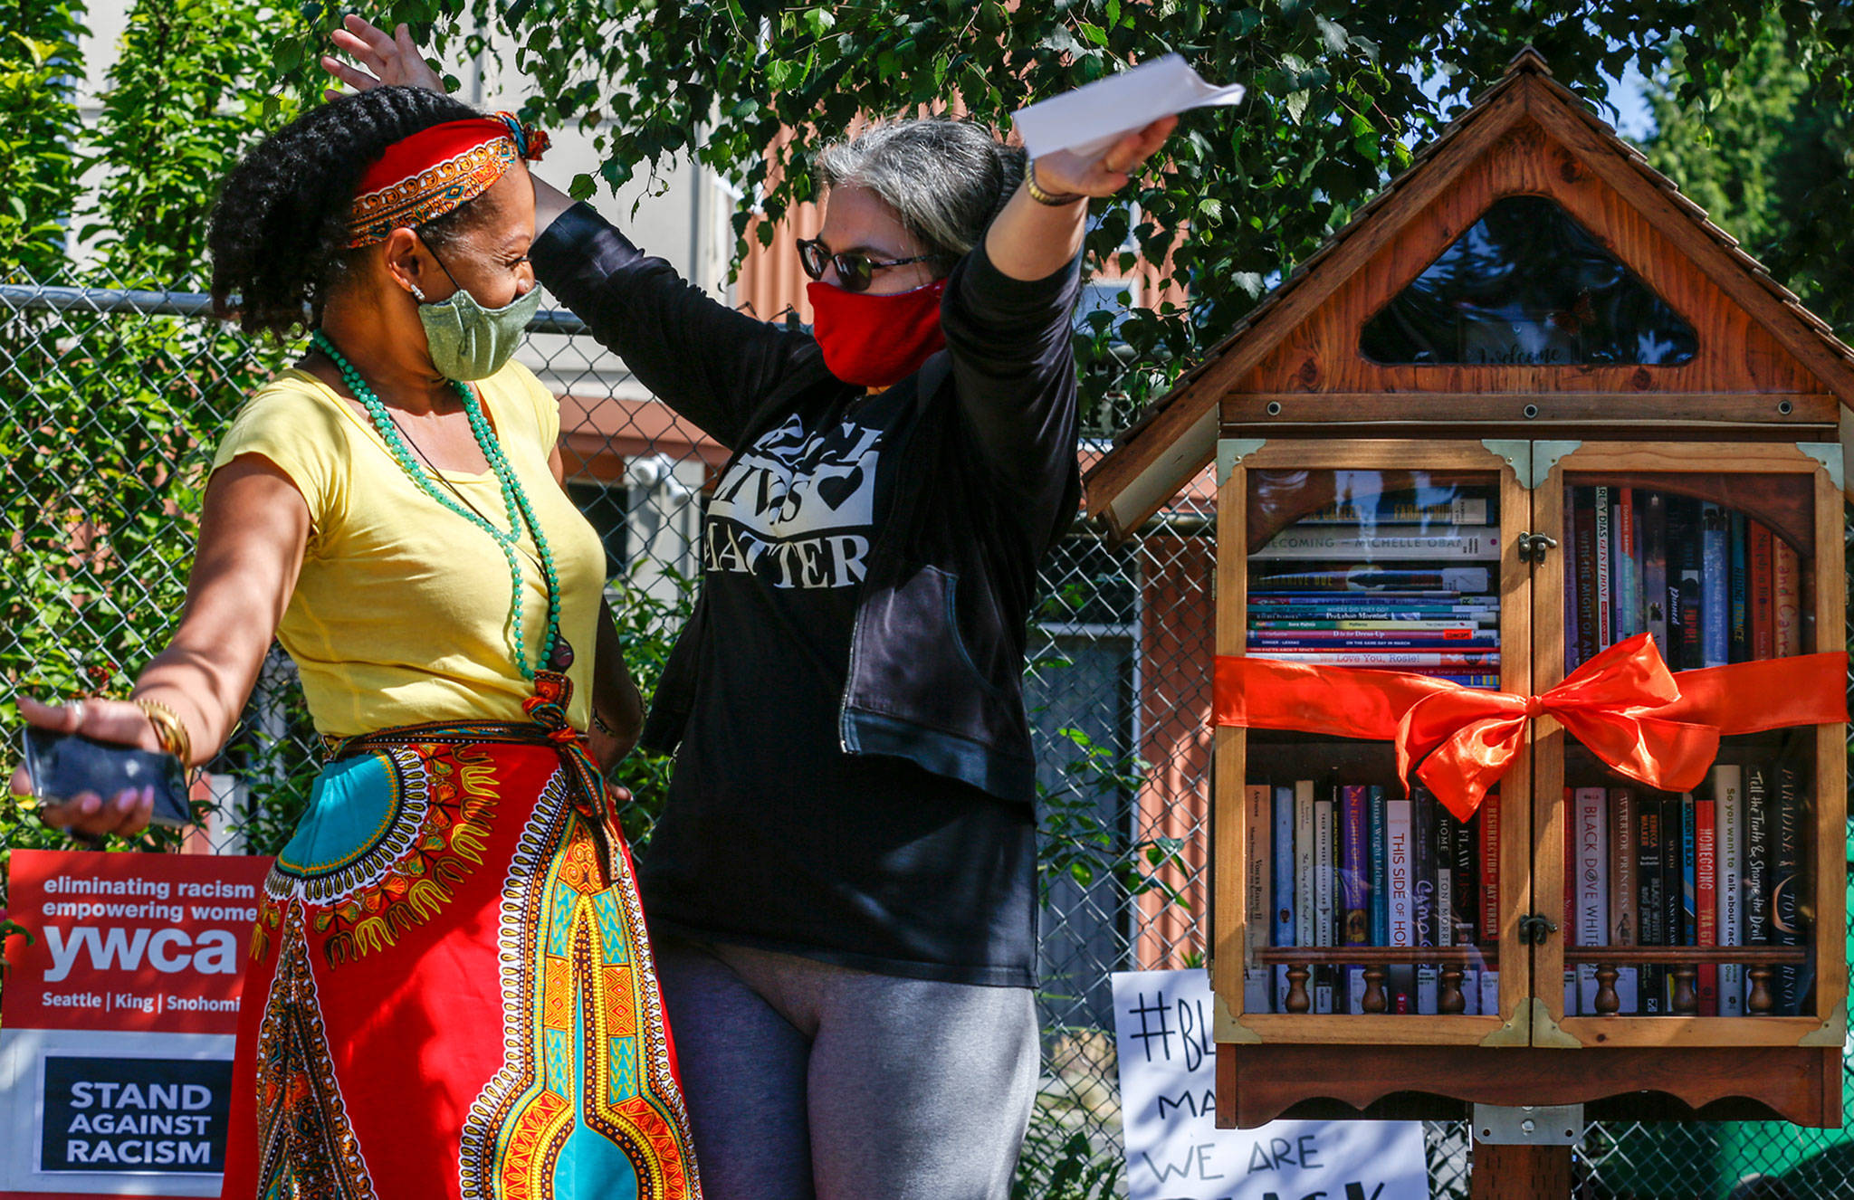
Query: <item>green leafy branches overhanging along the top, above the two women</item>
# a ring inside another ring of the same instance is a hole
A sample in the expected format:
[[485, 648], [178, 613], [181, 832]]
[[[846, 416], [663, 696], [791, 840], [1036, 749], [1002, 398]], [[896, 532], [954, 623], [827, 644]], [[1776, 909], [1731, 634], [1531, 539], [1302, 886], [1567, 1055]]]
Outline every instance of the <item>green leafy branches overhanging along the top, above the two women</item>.
[[[1704, 67], [1682, 98], [1717, 89], [1739, 67], [1769, 7], [1810, 46], [1810, 78], [1845, 57], [1837, 0], [391, 0], [376, 24], [412, 22], [449, 61], [480, 52], [486, 30], [514, 41], [515, 70], [536, 85], [528, 115], [595, 130], [599, 180], [617, 187], [675, 156], [693, 156], [743, 189], [734, 228], [769, 241], [771, 224], [814, 198], [805, 169], [819, 141], [858, 115], [944, 109], [1009, 126], [1012, 109], [1135, 61], [1179, 52], [1214, 82], [1242, 82], [1237, 109], [1187, 113], [1166, 169], [1098, 206], [1096, 263], [1162, 263], [1188, 295], [1133, 310], [1112, 334], [1133, 360], [1107, 362], [1109, 323], [1094, 317], [1077, 351], [1088, 388], [1137, 406], [1164, 386], [1305, 260], [1353, 208], [1402, 169], [1511, 56], [1537, 46], [1587, 96], [1630, 67], [1657, 74], [1678, 46]], [[313, 54], [337, 11], [310, 0], [284, 61], [319, 87]], [[1835, 48], [1841, 46], [1841, 48]], [[764, 215], [768, 221], [756, 221]], [[1120, 410], [1122, 414], [1127, 408]]]

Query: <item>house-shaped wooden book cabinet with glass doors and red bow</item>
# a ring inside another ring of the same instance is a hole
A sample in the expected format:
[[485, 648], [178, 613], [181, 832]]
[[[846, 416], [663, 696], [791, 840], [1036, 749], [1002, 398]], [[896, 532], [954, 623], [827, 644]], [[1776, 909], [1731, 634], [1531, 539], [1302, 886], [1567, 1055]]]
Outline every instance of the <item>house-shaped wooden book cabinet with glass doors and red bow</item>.
[[1526, 50], [1090, 469], [1214, 473], [1220, 1124], [1839, 1124], [1850, 406]]

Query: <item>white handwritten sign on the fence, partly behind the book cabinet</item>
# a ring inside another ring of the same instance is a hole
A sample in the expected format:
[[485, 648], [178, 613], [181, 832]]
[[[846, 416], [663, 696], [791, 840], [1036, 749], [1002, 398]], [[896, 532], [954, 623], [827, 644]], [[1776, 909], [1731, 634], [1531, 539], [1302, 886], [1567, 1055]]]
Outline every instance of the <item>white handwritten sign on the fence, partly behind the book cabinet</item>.
[[1114, 974], [1129, 1200], [1429, 1200], [1418, 1122], [1218, 1130], [1211, 1013], [1201, 970]]

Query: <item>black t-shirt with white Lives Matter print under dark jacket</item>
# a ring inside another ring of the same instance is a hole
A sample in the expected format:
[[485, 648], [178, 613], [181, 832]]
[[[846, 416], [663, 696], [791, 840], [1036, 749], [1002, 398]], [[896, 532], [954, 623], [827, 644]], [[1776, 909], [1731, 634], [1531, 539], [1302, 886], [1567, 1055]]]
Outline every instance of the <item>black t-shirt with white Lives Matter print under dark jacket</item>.
[[838, 707], [914, 380], [819, 397], [716, 482], [708, 629], [640, 881], [653, 929], [890, 976], [1033, 987], [1031, 811], [849, 755]]

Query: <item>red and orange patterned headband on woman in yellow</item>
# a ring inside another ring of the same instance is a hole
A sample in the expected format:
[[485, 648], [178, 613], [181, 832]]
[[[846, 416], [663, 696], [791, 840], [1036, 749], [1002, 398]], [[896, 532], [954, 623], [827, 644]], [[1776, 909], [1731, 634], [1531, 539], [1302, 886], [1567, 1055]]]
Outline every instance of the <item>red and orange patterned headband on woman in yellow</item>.
[[512, 113], [447, 121], [386, 148], [367, 167], [349, 217], [349, 249], [436, 221], [488, 191], [519, 161], [540, 161], [547, 134]]

